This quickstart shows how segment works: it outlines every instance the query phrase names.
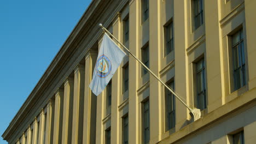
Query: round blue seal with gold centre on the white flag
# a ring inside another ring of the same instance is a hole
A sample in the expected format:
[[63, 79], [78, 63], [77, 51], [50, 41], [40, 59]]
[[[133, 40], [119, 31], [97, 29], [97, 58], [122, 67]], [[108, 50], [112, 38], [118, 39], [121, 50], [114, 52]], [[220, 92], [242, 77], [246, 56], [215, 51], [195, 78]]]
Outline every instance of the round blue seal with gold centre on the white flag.
[[101, 55], [96, 62], [96, 72], [101, 78], [109, 75], [112, 65], [108, 57]]

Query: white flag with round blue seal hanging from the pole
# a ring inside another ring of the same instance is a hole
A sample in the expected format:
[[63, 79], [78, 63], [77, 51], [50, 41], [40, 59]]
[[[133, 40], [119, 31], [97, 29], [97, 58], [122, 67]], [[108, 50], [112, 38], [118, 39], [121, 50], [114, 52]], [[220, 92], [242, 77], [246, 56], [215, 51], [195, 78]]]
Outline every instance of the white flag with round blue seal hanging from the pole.
[[94, 68], [94, 75], [89, 86], [95, 95], [100, 94], [108, 85], [125, 55], [125, 52], [104, 33]]

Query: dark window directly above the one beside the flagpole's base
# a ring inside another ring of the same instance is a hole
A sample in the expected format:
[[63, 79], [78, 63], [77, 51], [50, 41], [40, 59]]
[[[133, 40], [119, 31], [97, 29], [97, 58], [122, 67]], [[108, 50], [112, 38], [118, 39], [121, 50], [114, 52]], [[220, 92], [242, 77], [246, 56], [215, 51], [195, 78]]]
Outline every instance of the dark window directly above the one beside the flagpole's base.
[[165, 26], [165, 55], [173, 51], [173, 26], [172, 22]]

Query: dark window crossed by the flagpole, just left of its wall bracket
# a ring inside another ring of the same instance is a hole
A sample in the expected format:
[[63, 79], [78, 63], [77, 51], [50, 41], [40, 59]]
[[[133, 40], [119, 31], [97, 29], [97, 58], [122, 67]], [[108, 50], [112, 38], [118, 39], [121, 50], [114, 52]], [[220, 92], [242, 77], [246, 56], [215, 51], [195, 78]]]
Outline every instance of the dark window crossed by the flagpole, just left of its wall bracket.
[[[167, 86], [174, 89], [173, 81], [168, 82]], [[171, 128], [175, 127], [175, 97], [169, 89], [165, 88], [165, 105], [166, 105], [166, 130], [170, 130]]]

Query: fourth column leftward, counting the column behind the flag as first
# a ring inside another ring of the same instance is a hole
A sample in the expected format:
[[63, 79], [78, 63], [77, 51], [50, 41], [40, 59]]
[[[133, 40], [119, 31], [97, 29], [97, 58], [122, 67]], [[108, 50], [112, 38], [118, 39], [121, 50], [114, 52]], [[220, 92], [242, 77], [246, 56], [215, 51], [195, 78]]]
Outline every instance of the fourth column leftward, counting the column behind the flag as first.
[[54, 108], [54, 136], [53, 143], [61, 143], [62, 131], [62, 111], [63, 111], [63, 89], [57, 89], [55, 93], [55, 108]]

